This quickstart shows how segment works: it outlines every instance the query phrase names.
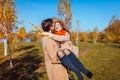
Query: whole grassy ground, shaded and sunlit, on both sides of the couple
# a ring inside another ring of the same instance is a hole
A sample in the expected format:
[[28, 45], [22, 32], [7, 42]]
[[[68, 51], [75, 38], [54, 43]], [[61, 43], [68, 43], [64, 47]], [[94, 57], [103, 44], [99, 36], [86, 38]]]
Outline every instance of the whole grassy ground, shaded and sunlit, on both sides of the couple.
[[[91, 42], [79, 42], [78, 46], [79, 59], [93, 72], [94, 77], [91, 80], [120, 79], [120, 44], [95, 45]], [[12, 68], [9, 65], [9, 56], [3, 56], [3, 44], [0, 44], [0, 80], [48, 80], [40, 43], [12, 44], [11, 50]], [[77, 80], [75, 74], [71, 74], [71, 80]]]

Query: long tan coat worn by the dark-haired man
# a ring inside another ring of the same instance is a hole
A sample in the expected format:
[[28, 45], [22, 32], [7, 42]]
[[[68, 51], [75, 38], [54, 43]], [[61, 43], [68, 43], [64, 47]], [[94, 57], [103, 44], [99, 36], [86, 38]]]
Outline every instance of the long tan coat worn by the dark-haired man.
[[58, 51], [56, 42], [48, 36], [43, 36], [42, 48], [49, 80], [69, 80], [66, 68], [60, 63], [56, 56]]

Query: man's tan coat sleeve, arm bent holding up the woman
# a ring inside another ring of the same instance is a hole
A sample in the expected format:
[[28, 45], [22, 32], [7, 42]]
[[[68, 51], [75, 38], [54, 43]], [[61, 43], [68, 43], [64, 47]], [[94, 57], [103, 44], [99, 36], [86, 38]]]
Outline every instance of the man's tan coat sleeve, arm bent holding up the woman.
[[52, 63], [61, 63], [57, 57], [58, 48], [55, 42], [53, 42], [52, 40], [48, 40], [46, 49]]

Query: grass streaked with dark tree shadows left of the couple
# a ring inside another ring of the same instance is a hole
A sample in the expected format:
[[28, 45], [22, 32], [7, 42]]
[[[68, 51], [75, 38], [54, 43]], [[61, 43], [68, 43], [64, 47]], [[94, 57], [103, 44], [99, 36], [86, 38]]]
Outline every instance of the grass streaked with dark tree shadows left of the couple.
[[40, 43], [12, 44], [11, 50], [12, 68], [9, 55], [0, 57], [0, 80], [47, 80]]

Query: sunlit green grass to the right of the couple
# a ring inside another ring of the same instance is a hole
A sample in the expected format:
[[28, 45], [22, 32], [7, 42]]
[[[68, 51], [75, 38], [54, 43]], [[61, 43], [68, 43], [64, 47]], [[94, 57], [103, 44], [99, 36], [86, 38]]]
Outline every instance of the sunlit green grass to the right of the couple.
[[[120, 45], [97, 43], [80, 43], [88, 49], [80, 54], [80, 60], [91, 70], [94, 77], [91, 80], [119, 80], [120, 79]], [[88, 79], [86, 79], [88, 80]]]

